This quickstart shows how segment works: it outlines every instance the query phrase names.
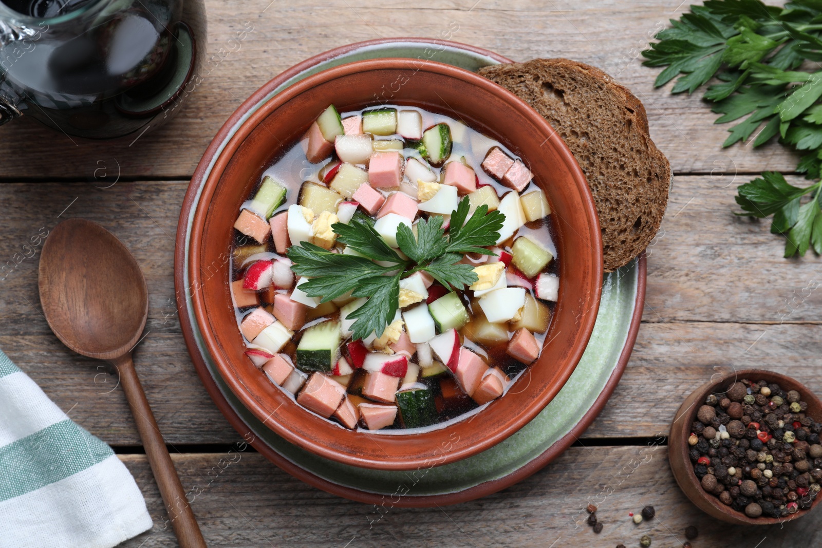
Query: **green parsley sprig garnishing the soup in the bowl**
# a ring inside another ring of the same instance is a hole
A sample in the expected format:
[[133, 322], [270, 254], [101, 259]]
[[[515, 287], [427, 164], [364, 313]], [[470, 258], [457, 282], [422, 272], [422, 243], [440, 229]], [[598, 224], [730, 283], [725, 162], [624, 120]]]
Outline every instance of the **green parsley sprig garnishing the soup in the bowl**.
[[[366, 338], [372, 332], [381, 336], [399, 306], [399, 280], [415, 272], [427, 272], [446, 288], [464, 289], [478, 280], [470, 265], [458, 265], [465, 253], [495, 255], [483, 246], [493, 246], [499, 238], [505, 215], [488, 213], [480, 205], [469, 214], [469, 200], [464, 198], [451, 214], [450, 230], [442, 228], [441, 215], [432, 215], [417, 223], [417, 236], [407, 225], [397, 230], [399, 250], [403, 259], [374, 230], [374, 221], [355, 215], [348, 224], [335, 223], [331, 229], [337, 241], [361, 256], [326, 251], [320, 246], [300, 242], [289, 247], [292, 269], [299, 276], [310, 278], [300, 286], [309, 297], [322, 297], [328, 302], [352, 292], [352, 297], [368, 297], [367, 302], [349, 315], [355, 318], [353, 338]], [[468, 219], [468, 222], [466, 222]]]

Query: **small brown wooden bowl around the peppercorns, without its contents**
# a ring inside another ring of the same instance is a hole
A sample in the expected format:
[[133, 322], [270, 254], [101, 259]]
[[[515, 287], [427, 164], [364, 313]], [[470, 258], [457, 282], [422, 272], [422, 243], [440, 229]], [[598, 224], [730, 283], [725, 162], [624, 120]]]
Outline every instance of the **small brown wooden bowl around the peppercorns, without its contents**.
[[766, 380], [769, 384], [775, 383], [781, 386], [786, 392], [797, 390], [797, 392], [801, 394], [802, 401], [808, 404], [806, 414], [814, 417], [816, 420], [822, 417], [822, 401], [798, 380], [774, 373], [773, 371], [763, 371], [759, 369], [733, 371], [715, 381], [712, 380], [708, 384], [700, 386], [700, 388], [696, 389], [693, 394], [690, 394], [690, 396], [686, 398], [677, 410], [677, 415], [674, 417], [671, 426], [671, 434], [668, 438], [668, 461], [671, 463], [673, 476], [677, 479], [681, 490], [685, 492], [685, 495], [692, 503], [696, 504], [703, 512], [708, 513], [713, 518], [721, 519], [723, 522], [735, 523], [737, 525], [773, 525], [774, 523], [784, 523], [792, 519], [801, 518], [819, 504], [820, 500], [822, 500], [822, 495], [816, 496], [810, 509], [788, 514], [785, 518], [767, 518], [764, 516], [749, 518], [745, 513], [737, 512], [737, 510], [720, 502], [717, 497], [705, 492], [700, 485], [700, 480], [694, 473], [694, 468], [688, 457], [688, 451], [690, 450], [688, 436], [690, 435], [690, 426], [696, 420], [696, 412], [699, 411], [700, 406], [709, 394], [724, 392], [730, 388], [734, 382], [742, 379], [752, 380], [754, 382]]

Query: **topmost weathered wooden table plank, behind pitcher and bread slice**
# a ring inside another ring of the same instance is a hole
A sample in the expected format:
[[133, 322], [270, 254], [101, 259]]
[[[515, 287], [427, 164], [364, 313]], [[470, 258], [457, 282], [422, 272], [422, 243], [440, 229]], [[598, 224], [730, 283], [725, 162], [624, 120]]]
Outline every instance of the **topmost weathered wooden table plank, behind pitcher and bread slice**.
[[[132, 137], [118, 143], [76, 140], [76, 144], [23, 119], [0, 131], [4, 151], [0, 179], [93, 180], [104, 165], [109, 173], [116, 173], [117, 164], [127, 177], [188, 177], [229, 114], [279, 72], [330, 48], [407, 35], [450, 37], [520, 61], [566, 57], [603, 68], [644, 102], [651, 136], [677, 173], [793, 171], [797, 159], [780, 145], [762, 150], [736, 145], [723, 150], [727, 126], [713, 127], [716, 116], [697, 96], [653, 90], [659, 70], [642, 67], [639, 53], [647, 47], [649, 35], [686, 7], [687, 2], [677, 6], [660, 0], [630, 4], [416, 0], [390, 6], [367, 0], [353, 9], [347, 0], [296, 4], [208, 0], [209, 52], [218, 57], [179, 117], [134, 143]], [[219, 53], [247, 22], [254, 30], [240, 48]]]

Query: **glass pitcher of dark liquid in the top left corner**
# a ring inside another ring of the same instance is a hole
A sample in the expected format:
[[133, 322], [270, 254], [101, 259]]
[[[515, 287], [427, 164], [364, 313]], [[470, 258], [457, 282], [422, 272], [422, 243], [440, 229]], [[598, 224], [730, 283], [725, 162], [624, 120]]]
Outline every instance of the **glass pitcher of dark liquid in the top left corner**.
[[202, 0], [0, 0], [0, 124], [142, 135], [194, 91], [205, 31]]

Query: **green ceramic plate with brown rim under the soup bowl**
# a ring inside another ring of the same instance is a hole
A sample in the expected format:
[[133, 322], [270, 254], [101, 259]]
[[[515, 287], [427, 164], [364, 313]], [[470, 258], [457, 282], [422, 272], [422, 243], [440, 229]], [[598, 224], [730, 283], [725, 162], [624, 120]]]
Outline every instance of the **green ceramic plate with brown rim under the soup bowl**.
[[[454, 42], [384, 39], [323, 53], [269, 82], [229, 118], [192, 178], [178, 227], [178, 294], [182, 291], [182, 295], [188, 295], [183, 291], [188, 287], [188, 242], [202, 183], [236, 128], [266, 100], [306, 76], [345, 62], [391, 57], [432, 59], [471, 71], [509, 62], [495, 53]], [[560, 393], [533, 421], [481, 454], [417, 472], [370, 470], [336, 463], [300, 449], [270, 431], [239, 402], [220, 377], [193, 321], [191, 300], [178, 299], [178, 303], [189, 352], [206, 389], [238, 431], [243, 435], [252, 433], [261, 453], [302, 480], [338, 495], [369, 502], [390, 497], [395, 506], [424, 506], [470, 500], [510, 486], [550, 462], [581, 435], [607, 402], [630, 357], [642, 312], [644, 280], [644, 257], [606, 275], [588, 348]]]

